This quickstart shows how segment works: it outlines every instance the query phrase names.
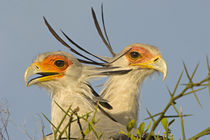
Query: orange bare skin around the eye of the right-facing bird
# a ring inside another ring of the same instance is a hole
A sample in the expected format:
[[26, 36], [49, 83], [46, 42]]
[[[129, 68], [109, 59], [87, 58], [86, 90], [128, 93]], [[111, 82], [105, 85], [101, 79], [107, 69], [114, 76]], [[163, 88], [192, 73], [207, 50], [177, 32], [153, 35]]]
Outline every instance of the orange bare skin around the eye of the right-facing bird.
[[[129, 50], [129, 48], [127, 50]], [[140, 56], [137, 58], [132, 58], [132, 56], [131, 56], [132, 52], [138, 52], [140, 54]], [[135, 63], [148, 62], [154, 58], [154, 55], [151, 54], [147, 49], [145, 49], [143, 47], [133, 46], [132, 49], [126, 54], [126, 57], [131, 64], [135, 64]]]

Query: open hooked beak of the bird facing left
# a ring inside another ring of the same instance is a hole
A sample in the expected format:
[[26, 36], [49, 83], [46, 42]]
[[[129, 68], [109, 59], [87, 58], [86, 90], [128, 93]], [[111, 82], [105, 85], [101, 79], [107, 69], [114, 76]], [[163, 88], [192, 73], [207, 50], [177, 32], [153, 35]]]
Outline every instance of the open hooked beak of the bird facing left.
[[[38, 75], [28, 81], [28, 78], [33, 75]], [[55, 78], [63, 76], [62, 73], [49, 70], [46, 66], [42, 66], [40, 63], [35, 62], [31, 64], [25, 71], [24, 80], [26, 86], [31, 86], [39, 82], [53, 80]]]

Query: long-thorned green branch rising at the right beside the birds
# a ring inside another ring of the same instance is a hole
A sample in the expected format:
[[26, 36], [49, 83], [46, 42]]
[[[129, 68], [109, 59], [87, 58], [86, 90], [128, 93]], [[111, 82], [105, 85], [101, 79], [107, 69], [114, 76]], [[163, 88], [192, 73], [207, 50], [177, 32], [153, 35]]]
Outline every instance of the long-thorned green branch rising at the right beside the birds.
[[[131, 140], [137, 140], [137, 139], [143, 139], [143, 137], [145, 137], [146, 135], [146, 140], [149, 140], [151, 137], [155, 138], [155, 139], [159, 139], [159, 135], [155, 135], [154, 131], [157, 128], [157, 126], [161, 123], [165, 132], [162, 135], [163, 139], [173, 139], [173, 134], [171, 134], [170, 132], [170, 125], [175, 121], [175, 118], [180, 118], [180, 123], [181, 123], [181, 132], [182, 132], [182, 139], [185, 140], [186, 136], [185, 136], [185, 131], [184, 131], [184, 119], [183, 117], [187, 117], [187, 116], [191, 116], [191, 115], [183, 115], [182, 112], [182, 106], [180, 106], [180, 109], [178, 111], [177, 107], [176, 107], [176, 101], [177, 99], [183, 98], [186, 95], [190, 95], [193, 94], [193, 96], [195, 97], [196, 101], [198, 102], [198, 104], [201, 106], [201, 103], [198, 99], [197, 93], [201, 90], [204, 90], [206, 88], [208, 88], [209, 93], [210, 93], [210, 66], [209, 66], [209, 62], [208, 62], [208, 57], [207, 57], [207, 69], [208, 69], [208, 74], [205, 78], [203, 78], [202, 80], [200, 80], [199, 82], [193, 82], [193, 78], [195, 76], [195, 73], [198, 69], [199, 64], [196, 65], [195, 69], [193, 70], [192, 74], [190, 75], [186, 65], [183, 63], [184, 66], [184, 70], [181, 72], [177, 83], [173, 89], [173, 91], [171, 92], [168, 89], [169, 95], [170, 95], [170, 100], [168, 102], [168, 104], [165, 106], [165, 108], [160, 112], [157, 113], [155, 115], [152, 115], [148, 109], [147, 109], [147, 113], [149, 115], [149, 119], [151, 119], [153, 121], [152, 123], [152, 127], [150, 128], [150, 132], [149, 134], [144, 133], [144, 122], [142, 122], [137, 130], [137, 137], [134, 137], [133, 135], [130, 135], [130, 129], [127, 129], [127, 133], [126, 132], [122, 132], [123, 134], [129, 136], [131, 138]], [[188, 78], [188, 83], [180, 85], [180, 81], [181, 78], [183, 76], [183, 73], [185, 72], [187, 78]], [[179, 93], [176, 93], [178, 87], [180, 86], [184, 86], [182, 87], [182, 91]], [[176, 116], [167, 116], [167, 111], [170, 107], [173, 107], [174, 111], [177, 113]], [[158, 118], [155, 120], [154, 117]], [[174, 118], [172, 121], [168, 122], [167, 118]], [[148, 118], [147, 118], [148, 119]], [[130, 126], [130, 123], [132, 123], [133, 120], [131, 122], [128, 123], [128, 126]], [[189, 138], [190, 140], [196, 140], [202, 136], [205, 135], [210, 135], [210, 127], [208, 127], [207, 129], [203, 130], [202, 132], [196, 134], [195, 136], [193, 136], [192, 138]]]

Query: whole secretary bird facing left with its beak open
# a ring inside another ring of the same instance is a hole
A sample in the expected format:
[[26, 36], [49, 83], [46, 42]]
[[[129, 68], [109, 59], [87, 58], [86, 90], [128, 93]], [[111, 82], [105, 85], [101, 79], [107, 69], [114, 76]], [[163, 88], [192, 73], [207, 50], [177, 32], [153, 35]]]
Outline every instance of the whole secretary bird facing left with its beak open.
[[[117, 123], [102, 109], [101, 106], [109, 109], [112, 107], [99, 96], [94, 96], [94, 90], [88, 83], [90, 78], [93, 78], [94, 75], [100, 76], [101, 73], [107, 74], [102, 69], [82, 65], [69, 53], [57, 51], [39, 55], [25, 71], [24, 79], [27, 86], [37, 85], [49, 91], [52, 97], [51, 122], [53, 130], [59, 126], [65, 115], [63, 110], [67, 111], [69, 106], [72, 110], [79, 108], [77, 113], [80, 116], [92, 112], [89, 117], [92, 118], [97, 106], [96, 100], [99, 101], [96, 112], [96, 120], [99, 121], [96, 123], [96, 127], [99, 132], [103, 132], [102, 139], [108, 139], [125, 127]], [[60, 132], [65, 129], [69, 119], [69, 116], [64, 119], [59, 129]], [[80, 121], [82, 127], [85, 128], [87, 123], [82, 119]], [[73, 138], [82, 137], [77, 122], [71, 124], [70, 136]], [[47, 137], [47, 139], [53, 138], [53, 135]], [[86, 138], [96, 139], [93, 133], [90, 133]]]

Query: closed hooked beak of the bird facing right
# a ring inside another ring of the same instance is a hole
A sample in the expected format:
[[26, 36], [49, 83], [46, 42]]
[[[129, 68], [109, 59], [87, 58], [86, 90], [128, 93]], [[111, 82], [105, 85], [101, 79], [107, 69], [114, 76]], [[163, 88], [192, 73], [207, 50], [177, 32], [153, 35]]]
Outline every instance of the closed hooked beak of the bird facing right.
[[157, 56], [154, 59], [147, 62], [135, 63], [131, 65], [140, 66], [141, 68], [154, 69], [161, 72], [163, 74], [162, 81], [164, 81], [167, 76], [167, 64], [166, 64], [166, 61], [161, 56]]

